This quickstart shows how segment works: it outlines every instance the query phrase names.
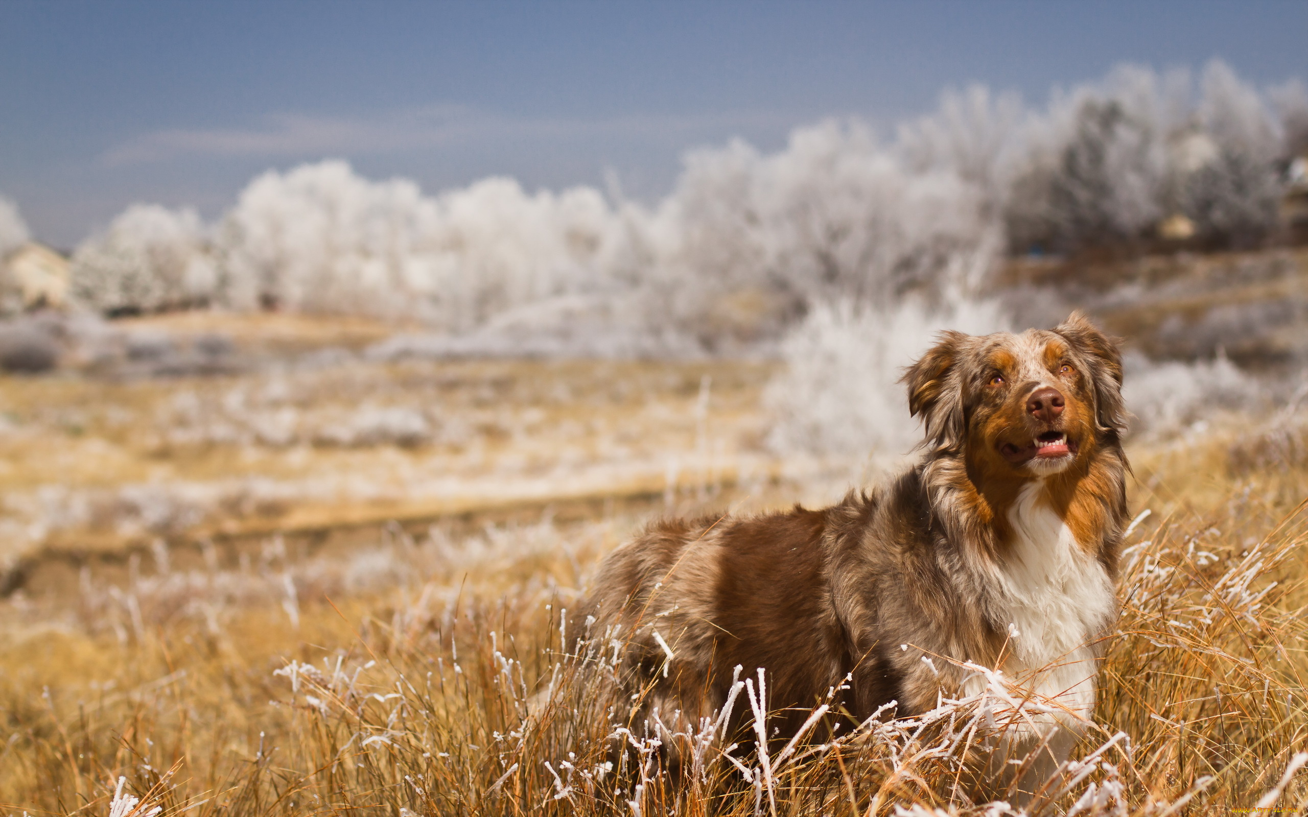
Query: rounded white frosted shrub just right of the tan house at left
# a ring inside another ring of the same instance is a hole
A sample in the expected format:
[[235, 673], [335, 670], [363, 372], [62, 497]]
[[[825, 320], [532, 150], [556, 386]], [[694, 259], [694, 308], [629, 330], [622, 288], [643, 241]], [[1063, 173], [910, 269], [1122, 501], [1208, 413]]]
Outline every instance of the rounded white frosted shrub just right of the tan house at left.
[[136, 204], [82, 242], [69, 272], [72, 295], [101, 312], [148, 312], [213, 295], [216, 275], [195, 210]]

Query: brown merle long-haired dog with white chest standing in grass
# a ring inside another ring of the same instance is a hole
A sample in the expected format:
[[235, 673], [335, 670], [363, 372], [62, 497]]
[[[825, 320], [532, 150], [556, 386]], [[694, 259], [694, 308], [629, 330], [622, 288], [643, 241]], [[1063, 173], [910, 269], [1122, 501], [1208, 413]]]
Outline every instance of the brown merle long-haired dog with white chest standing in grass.
[[782, 736], [841, 686], [833, 711], [906, 716], [984, 689], [967, 663], [1001, 669], [1057, 711], [1035, 735], [1065, 737], [1049, 774], [1117, 616], [1121, 354], [1074, 312], [943, 332], [901, 382], [925, 430], [905, 471], [824, 510], [655, 522], [602, 562], [581, 616], [623, 644], [625, 690], [683, 727], [723, 706], [736, 667], [765, 671]]

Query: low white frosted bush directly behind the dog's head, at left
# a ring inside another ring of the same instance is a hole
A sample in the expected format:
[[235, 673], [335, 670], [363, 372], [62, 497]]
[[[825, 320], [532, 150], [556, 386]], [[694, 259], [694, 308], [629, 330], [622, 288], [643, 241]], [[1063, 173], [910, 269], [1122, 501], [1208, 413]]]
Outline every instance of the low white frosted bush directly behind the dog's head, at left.
[[906, 454], [921, 439], [899, 383], [942, 329], [973, 335], [1008, 328], [993, 302], [927, 308], [821, 305], [781, 344], [783, 374], [764, 401], [774, 417], [768, 444], [781, 454], [872, 456]]

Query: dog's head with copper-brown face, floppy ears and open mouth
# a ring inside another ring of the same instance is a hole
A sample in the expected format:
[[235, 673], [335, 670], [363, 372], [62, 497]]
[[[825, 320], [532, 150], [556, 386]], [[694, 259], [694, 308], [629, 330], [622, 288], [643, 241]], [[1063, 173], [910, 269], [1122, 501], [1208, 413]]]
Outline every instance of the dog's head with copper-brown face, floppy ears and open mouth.
[[1058, 473], [1125, 429], [1121, 353], [1080, 312], [1052, 331], [944, 332], [904, 382], [926, 444], [1014, 476]]

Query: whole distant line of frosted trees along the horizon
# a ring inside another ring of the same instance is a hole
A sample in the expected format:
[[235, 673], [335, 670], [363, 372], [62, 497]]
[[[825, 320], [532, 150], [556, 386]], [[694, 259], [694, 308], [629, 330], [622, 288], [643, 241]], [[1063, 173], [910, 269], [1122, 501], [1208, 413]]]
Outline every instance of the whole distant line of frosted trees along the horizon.
[[[824, 122], [773, 154], [693, 150], [651, 207], [506, 178], [430, 196], [339, 161], [268, 171], [216, 224], [128, 208], [77, 247], [72, 292], [110, 315], [220, 306], [447, 333], [564, 299], [712, 346], [777, 336], [818, 302], [974, 290], [1005, 254], [1282, 241], [1305, 150], [1301, 81], [1120, 67], [1040, 110], [971, 86], [891, 137]], [[0, 203], [0, 252], [25, 238]]]

